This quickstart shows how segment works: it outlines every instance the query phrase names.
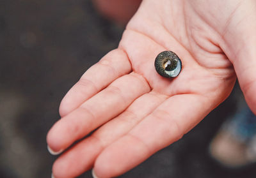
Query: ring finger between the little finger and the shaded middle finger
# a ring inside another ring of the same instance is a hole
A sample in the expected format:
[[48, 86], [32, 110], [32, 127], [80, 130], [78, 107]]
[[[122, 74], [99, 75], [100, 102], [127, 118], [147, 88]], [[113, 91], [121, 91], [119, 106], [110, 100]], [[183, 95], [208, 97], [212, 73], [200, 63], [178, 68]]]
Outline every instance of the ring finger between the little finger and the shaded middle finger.
[[70, 114], [60, 119], [47, 135], [49, 147], [58, 152], [124, 111], [132, 101], [148, 93], [147, 81], [136, 73], [116, 79]]

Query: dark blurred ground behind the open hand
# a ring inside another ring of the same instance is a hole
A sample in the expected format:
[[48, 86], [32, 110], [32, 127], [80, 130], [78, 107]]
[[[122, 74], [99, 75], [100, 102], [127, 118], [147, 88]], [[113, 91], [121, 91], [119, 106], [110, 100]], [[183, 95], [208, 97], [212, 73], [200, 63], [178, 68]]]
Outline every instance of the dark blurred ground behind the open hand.
[[[51, 177], [56, 158], [45, 136], [59, 119], [59, 103], [84, 71], [117, 47], [122, 31], [86, 0], [0, 1], [0, 177]], [[182, 140], [121, 177], [255, 177], [252, 167], [220, 167], [207, 149], [241, 100], [236, 89]]]

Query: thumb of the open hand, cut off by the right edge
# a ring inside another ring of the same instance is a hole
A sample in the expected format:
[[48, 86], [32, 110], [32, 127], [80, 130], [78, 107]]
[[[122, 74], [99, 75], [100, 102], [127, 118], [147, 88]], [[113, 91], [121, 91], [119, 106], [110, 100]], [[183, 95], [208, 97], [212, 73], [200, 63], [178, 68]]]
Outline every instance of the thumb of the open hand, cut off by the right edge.
[[238, 12], [239, 18], [230, 20], [223, 38], [246, 103], [256, 114], [256, 3], [251, 2]]

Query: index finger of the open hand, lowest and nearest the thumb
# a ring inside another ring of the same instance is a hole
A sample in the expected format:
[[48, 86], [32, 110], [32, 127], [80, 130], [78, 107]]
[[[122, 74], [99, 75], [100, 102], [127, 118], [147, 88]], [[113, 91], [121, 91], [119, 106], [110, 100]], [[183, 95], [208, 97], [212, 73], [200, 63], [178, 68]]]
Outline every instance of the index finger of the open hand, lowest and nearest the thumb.
[[123, 174], [178, 140], [211, 109], [209, 100], [196, 94], [169, 98], [127, 135], [100, 153], [94, 165], [95, 174], [98, 177]]

